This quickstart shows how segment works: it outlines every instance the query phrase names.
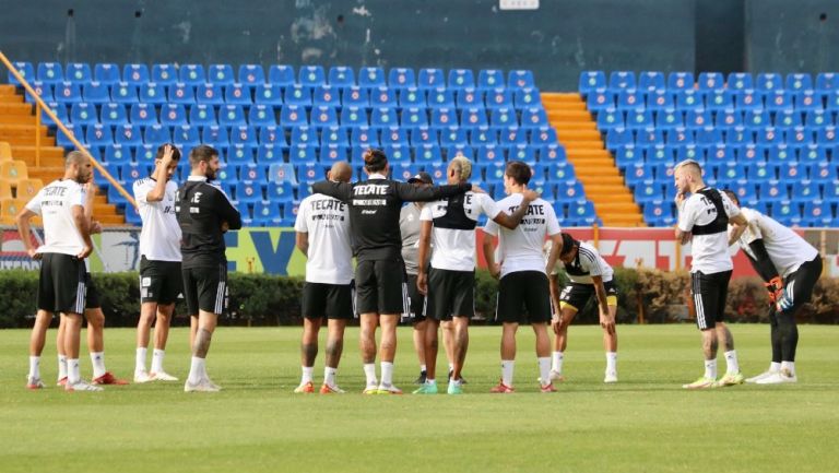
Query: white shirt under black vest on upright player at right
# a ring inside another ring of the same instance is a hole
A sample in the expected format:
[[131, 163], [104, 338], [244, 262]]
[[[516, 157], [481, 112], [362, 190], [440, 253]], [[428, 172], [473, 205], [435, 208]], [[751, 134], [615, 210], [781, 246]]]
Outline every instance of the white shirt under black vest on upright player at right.
[[[740, 215], [740, 209], [731, 202], [725, 193], [714, 189], [722, 197], [722, 206], [730, 217]], [[713, 202], [701, 193], [693, 193], [688, 197], [678, 212], [678, 229], [690, 232], [694, 225], [707, 225], [717, 218], [717, 208]], [[722, 271], [731, 271], [734, 264], [729, 253], [729, 233], [720, 232], [711, 235], [694, 235], [690, 240], [690, 252], [694, 257], [690, 272], [701, 271], [704, 274], [713, 274]]]

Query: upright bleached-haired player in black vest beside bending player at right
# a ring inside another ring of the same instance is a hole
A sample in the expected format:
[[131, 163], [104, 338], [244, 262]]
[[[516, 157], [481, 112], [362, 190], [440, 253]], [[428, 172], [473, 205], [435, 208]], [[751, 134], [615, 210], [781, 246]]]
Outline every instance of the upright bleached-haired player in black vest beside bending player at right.
[[[678, 163], [674, 180], [678, 209], [676, 240], [682, 245], [690, 243], [690, 294], [696, 306], [696, 324], [702, 332], [705, 354], [705, 374], [683, 388], [706, 389], [740, 385], [743, 383], [743, 375], [740, 373], [737, 353], [734, 351], [734, 338], [723, 318], [729, 281], [734, 268], [729, 246], [736, 241], [734, 235], [729, 239], [728, 226], [732, 224], [735, 228], [733, 233], [738, 237], [747, 222], [725, 194], [705, 185], [702, 168], [696, 161], [686, 159]], [[687, 193], [690, 193], [690, 197], [687, 197]], [[718, 381], [717, 348], [720, 344], [725, 350], [726, 369], [725, 375]]]

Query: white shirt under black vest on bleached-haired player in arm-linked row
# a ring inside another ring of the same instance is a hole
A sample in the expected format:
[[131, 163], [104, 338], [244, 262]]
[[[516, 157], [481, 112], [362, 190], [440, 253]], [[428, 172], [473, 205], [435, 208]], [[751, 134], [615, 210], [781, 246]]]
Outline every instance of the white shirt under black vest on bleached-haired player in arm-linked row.
[[[429, 222], [446, 215], [448, 200], [438, 200], [423, 206], [420, 221]], [[463, 213], [471, 222], [477, 222], [481, 215], [495, 218], [501, 209], [492, 197], [472, 191], [463, 194]], [[475, 230], [440, 228], [432, 230], [432, 268], [449, 271], [474, 271], [475, 269]]]

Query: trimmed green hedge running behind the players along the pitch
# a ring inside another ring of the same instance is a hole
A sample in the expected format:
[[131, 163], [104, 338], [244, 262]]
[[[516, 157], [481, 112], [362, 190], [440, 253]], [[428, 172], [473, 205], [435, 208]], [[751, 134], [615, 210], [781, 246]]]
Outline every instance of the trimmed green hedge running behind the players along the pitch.
[[[137, 273], [97, 273], [94, 281], [102, 295], [102, 307], [109, 327], [132, 327], [140, 315]], [[564, 275], [560, 275], [560, 280]], [[689, 299], [688, 274], [657, 270], [615, 270], [618, 288], [617, 319], [621, 323], [664, 323], [690, 320], [685, 303]], [[221, 320], [231, 326], [285, 326], [300, 322], [302, 277], [263, 274], [229, 274], [229, 310]], [[0, 271], [0, 328], [31, 327], [35, 314], [38, 274], [34, 271]], [[498, 283], [486, 271], [477, 271], [475, 309], [477, 317], [491, 322], [495, 312]], [[813, 304], [800, 314], [800, 321], [839, 323], [839, 283], [823, 279], [815, 288]], [[726, 317], [731, 321], [767, 320], [767, 299], [756, 277], [732, 281]], [[175, 324], [187, 324], [182, 305], [176, 310]], [[596, 323], [593, 300], [577, 317], [579, 323]]]

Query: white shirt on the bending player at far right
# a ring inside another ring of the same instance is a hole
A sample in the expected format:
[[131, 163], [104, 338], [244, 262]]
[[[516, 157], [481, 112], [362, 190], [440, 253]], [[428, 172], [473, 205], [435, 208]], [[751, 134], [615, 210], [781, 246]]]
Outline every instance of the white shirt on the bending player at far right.
[[818, 256], [818, 251], [804, 238], [773, 218], [754, 209], [741, 208], [740, 211], [748, 221], [748, 226], [737, 244], [754, 258], [755, 255], [748, 245], [763, 238], [766, 252], [782, 277], [785, 279], [803, 263], [813, 261]]

